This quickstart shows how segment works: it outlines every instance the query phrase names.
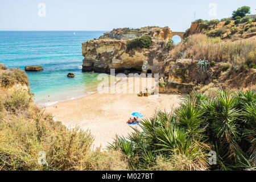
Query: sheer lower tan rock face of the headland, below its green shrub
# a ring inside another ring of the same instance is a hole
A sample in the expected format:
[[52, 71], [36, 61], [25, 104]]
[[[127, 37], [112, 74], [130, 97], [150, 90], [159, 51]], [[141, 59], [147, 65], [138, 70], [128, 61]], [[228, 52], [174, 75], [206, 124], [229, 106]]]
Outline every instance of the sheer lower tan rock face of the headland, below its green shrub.
[[164, 53], [158, 51], [162, 40], [152, 40], [150, 48], [127, 51], [126, 40], [97, 39], [82, 43], [82, 70], [109, 73], [158, 73]]

